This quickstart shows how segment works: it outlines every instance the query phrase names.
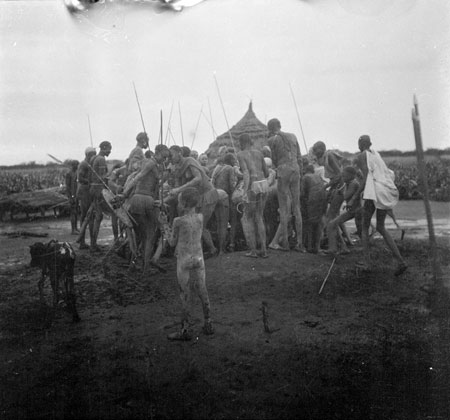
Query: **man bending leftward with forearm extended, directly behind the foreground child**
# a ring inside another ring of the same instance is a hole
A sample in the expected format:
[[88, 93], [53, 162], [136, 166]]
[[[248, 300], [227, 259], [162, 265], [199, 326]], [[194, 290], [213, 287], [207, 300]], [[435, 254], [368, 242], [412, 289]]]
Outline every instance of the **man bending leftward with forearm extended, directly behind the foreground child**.
[[211, 184], [206, 173], [200, 164], [191, 157], [183, 157], [179, 146], [170, 148], [170, 159], [175, 165], [175, 188], [170, 191], [172, 197], [176, 197], [186, 188], [194, 187], [200, 194], [198, 208], [203, 214], [203, 240], [210, 249], [212, 255], [217, 254], [217, 249], [211, 238], [211, 234], [206, 228], [214, 209], [219, 201], [219, 194]]

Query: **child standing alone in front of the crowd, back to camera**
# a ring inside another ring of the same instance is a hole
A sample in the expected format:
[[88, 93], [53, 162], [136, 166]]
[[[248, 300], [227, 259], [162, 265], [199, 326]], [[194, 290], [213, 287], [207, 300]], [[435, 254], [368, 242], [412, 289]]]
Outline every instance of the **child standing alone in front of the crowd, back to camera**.
[[187, 341], [192, 339], [189, 330], [190, 307], [192, 305], [191, 286], [195, 286], [203, 307], [205, 324], [204, 334], [213, 334], [210, 318], [208, 291], [205, 284], [205, 263], [202, 250], [203, 215], [195, 213], [200, 195], [196, 188], [188, 187], [178, 195], [179, 210], [184, 214], [173, 220], [172, 229], [167, 217], [160, 216], [169, 244], [175, 248], [177, 257], [177, 278], [180, 286], [180, 298], [183, 305], [181, 331], [169, 334], [169, 340]]

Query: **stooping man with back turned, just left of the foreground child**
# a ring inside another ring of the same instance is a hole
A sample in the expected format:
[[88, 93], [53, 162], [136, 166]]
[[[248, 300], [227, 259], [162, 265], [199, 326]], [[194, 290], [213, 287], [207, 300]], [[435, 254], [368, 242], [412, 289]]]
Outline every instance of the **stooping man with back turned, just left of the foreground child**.
[[123, 195], [130, 198], [129, 212], [136, 220], [136, 233], [144, 247], [144, 273], [148, 270], [155, 245], [158, 228], [159, 207], [155, 201], [159, 198], [159, 181], [162, 177], [162, 164], [169, 157], [169, 149], [163, 144], [155, 147], [155, 154], [144, 159], [141, 170], [128, 183]]

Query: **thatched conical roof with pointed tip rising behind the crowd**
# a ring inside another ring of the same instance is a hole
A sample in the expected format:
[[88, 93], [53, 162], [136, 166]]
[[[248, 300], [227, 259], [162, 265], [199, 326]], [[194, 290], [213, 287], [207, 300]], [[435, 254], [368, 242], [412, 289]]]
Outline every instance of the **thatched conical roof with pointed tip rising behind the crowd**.
[[[233, 141], [230, 139], [233, 138]], [[261, 149], [267, 144], [267, 126], [262, 123], [255, 115], [253, 111], [253, 104], [250, 102], [248, 110], [245, 115], [230, 129], [218, 136], [214, 142], [209, 145], [206, 154], [214, 158], [217, 156], [217, 151], [221, 146], [234, 147], [239, 150], [239, 136], [247, 133], [253, 140], [253, 145], [257, 149]]]

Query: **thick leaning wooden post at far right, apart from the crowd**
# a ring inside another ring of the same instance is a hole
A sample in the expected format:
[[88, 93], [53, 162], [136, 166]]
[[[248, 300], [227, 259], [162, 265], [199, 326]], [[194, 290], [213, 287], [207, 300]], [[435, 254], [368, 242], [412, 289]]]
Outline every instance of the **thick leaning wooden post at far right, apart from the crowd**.
[[420, 129], [420, 117], [419, 117], [419, 104], [417, 102], [416, 95], [414, 95], [414, 108], [412, 109], [412, 122], [414, 127], [414, 138], [416, 141], [416, 154], [417, 154], [417, 168], [419, 170], [419, 177], [422, 184], [423, 203], [425, 205], [425, 213], [427, 215], [428, 223], [428, 235], [430, 240], [431, 258], [433, 262], [433, 270], [436, 278], [440, 278], [442, 275], [439, 266], [436, 237], [434, 235], [433, 216], [431, 214], [430, 198], [428, 192], [428, 181], [426, 177], [425, 169], [425, 157], [422, 146], [422, 132]]

